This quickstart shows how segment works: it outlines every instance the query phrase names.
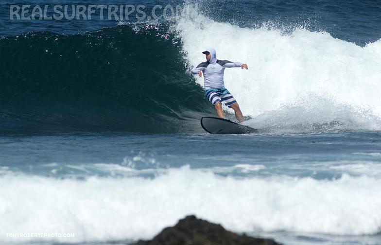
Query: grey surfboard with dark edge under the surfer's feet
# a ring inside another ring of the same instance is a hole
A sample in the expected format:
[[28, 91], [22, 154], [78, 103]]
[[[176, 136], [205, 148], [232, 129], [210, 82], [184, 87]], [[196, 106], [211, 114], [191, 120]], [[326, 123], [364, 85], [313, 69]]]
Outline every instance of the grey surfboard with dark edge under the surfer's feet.
[[201, 118], [201, 126], [210, 134], [249, 134], [258, 131], [258, 129], [216, 117]]

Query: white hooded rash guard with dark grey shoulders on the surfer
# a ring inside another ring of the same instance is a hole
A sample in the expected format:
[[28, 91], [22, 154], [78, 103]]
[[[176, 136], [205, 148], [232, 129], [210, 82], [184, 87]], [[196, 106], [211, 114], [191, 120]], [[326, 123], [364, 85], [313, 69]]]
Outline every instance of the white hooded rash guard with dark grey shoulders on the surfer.
[[206, 51], [208, 51], [211, 55], [210, 60], [200, 63], [196, 68], [191, 70], [191, 73], [197, 74], [197, 71], [199, 70], [204, 73], [205, 89], [225, 88], [225, 68], [241, 67], [242, 63], [231, 62], [228, 60], [218, 60], [214, 49], [209, 48]]

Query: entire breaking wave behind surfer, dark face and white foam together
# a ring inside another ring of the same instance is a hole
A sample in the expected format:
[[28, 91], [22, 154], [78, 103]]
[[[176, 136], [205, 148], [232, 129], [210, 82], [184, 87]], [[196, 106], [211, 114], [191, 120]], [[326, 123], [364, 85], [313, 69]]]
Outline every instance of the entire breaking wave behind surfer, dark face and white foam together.
[[225, 85], [250, 126], [381, 129], [380, 40], [358, 46], [301, 27], [240, 27], [184, 6], [190, 15], [156, 25], [2, 37], [1, 130], [201, 132], [199, 118], [214, 111], [189, 68], [210, 46], [249, 65], [226, 70]]

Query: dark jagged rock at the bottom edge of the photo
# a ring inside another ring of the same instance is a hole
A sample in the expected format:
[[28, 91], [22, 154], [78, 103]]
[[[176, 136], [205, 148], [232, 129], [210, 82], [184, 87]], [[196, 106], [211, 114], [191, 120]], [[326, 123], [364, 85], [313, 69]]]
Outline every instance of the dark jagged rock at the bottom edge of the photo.
[[227, 231], [221, 225], [197, 219], [194, 215], [163, 229], [151, 241], [136, 245], [280, 245], [271, 239], [253, 238]]

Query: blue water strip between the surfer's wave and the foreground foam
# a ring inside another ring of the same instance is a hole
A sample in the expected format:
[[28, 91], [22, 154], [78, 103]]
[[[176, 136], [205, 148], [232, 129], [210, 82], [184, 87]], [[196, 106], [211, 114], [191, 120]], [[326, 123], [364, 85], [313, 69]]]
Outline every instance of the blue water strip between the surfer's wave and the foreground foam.
[[1, 149], [0, 161], [6, 163], [3, 170], [47, 177], [125, 173], [93, 168], [94, 164], [131, 168], [137, 175], [140, 170], [155, 175], [155, 171], [160, 174], [186, 165], [242, 177], [287, 175], [331, 180], [343, 174], [381, 174], [371, 171], [371, 166], [381, 161], [379, 132], [16, 136], [2, 137]]

